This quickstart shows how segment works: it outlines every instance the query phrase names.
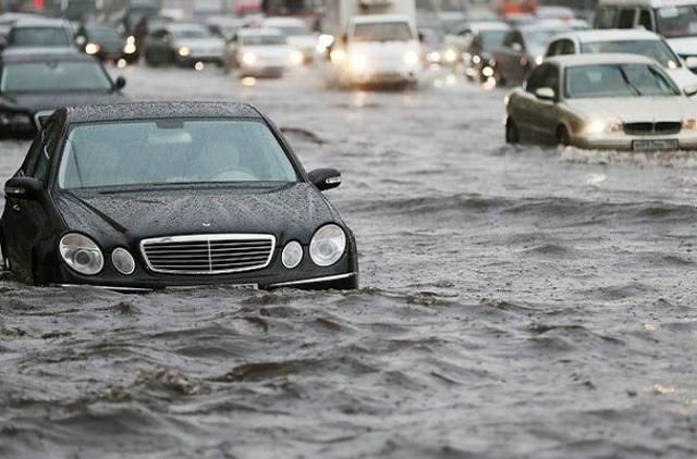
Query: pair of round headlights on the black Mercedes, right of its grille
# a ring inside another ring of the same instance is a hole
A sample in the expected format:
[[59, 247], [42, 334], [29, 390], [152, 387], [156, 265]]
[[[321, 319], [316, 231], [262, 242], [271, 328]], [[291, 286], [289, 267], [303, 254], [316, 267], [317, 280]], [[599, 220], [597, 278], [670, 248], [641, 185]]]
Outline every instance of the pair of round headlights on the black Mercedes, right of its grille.
[[[327, 268], [337, 263], [346, 250], [346, 233], [335, 225], [328, 224], [319, 228], [309, 243], [309, 258], [318, 266]], [[303, 261], [303, 246], [293, 240], [285, 245], [281, 262], [292, 270]]]

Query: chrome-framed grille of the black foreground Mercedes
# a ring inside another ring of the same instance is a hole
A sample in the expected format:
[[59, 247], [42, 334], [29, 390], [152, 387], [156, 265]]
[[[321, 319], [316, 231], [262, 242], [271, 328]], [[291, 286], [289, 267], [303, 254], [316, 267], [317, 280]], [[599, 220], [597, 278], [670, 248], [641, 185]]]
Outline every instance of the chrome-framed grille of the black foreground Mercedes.
[[144, 239], [140, 252], [156, 273], [212, 275], [253, 271], [271, 263], [276, 237], [206, 234]]

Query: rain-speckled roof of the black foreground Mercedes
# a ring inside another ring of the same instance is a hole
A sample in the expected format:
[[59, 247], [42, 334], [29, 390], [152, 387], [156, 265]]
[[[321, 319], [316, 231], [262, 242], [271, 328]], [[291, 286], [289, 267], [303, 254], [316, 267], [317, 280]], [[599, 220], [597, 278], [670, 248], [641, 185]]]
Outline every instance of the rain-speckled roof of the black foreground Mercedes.
[[68, 123], [171, 119], [262, 119], [254, 107], [236, 102], [130, 102], [70, 107], [61, 110], [65, 112]]

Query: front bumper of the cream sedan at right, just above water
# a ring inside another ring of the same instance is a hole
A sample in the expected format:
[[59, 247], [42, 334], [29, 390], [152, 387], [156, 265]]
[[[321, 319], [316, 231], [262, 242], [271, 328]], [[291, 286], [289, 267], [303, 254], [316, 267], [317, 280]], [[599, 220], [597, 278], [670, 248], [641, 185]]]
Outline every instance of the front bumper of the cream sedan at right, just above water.
[[[594, 135], [577, 135], [572, 138], [572, 145], [578, 148], [589, 150], [619, 150], [619, 151], [637, 151], [647, 152], [656, 150], [635, 149], [635, 142], [645, 141], [657, 142], [675, 142], [677, 150], [697, 150], [697, 133], [685, 134], [681, 132], [674, 135], [629, 135], [623, 132], [608, 133], [608, 134], [594, 134]], [[672, 150], [672, 148], [658, 149], [658, 150]]]

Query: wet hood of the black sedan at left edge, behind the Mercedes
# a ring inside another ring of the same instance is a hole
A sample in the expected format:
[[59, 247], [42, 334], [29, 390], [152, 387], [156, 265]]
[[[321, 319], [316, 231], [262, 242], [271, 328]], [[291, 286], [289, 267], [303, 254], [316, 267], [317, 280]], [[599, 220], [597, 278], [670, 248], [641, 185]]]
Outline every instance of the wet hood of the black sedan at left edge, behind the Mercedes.
[[61, 107], [120, 103], [127, 100], [121, 92], [111, 91], [26, 92], [4, 95], [0, 99], [0, 106], [33, 115], [37, 112], [56, 110]]

